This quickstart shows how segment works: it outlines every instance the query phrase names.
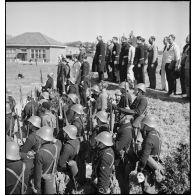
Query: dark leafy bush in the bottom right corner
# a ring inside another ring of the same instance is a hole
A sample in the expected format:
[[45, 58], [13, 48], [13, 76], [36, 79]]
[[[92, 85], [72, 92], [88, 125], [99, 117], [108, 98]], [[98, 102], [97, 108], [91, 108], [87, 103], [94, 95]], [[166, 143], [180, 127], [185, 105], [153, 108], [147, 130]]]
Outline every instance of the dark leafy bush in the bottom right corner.
[[161, 192], [183, 194], [190, 191], [190, 146], [179, 143], [171, 156], [164, 159], [166, 179], [161, 183]]

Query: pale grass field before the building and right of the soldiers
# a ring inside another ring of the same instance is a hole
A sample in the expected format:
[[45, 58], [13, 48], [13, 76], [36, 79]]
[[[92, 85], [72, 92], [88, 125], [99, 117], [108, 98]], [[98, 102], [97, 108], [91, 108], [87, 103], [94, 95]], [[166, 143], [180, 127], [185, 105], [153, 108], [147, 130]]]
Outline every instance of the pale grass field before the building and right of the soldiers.
[[[90, 63], [92, 59], [89, 59]], [[23, 97], [27, 92], [34, 89], [35, 85], [40, 83], [40, 68], [43, 73], [44, 82], [47, 80], [47, 74], [53, 72], [56, 79], [57, 66], [38, 64], [19, 65], [16, 63], [6, 64], [6, 87], [13, 92], [16, 101], [19, 102], [19, 86], [22, 86]], [[149, 113], [154, 114], [158, 130], [162, 135], [162, 157], [168, 155], [174, 150], [180, 141], [190, 142], [190, 103], [182, 99], [181, 96], [168, 98], [161, 89], [160, 80], [160, 61], [157, 68], [157, 90], [147, 90], [149, 101]], [[24, 79], [17, 79], [17, 74], [22, 73]], [[146, 86], [148, 86], [148, 76], [146, 74]], [[177, 92], [180, 93], [180, 82], [177, 80]]]

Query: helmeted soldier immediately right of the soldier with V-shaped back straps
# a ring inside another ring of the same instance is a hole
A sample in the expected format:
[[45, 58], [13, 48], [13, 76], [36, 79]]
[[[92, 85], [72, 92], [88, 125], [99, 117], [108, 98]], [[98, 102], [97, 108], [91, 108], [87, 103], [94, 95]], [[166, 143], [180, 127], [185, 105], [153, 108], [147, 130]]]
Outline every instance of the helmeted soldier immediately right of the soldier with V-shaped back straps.
[[59, 171], [67, 172], [67, 163], [70, 160], [75, 160], [80, 150], [80, 142], [77, 138], [77, 127], [67, 125], [63, 128], [64, 143], [62, 152], [59, 158]]

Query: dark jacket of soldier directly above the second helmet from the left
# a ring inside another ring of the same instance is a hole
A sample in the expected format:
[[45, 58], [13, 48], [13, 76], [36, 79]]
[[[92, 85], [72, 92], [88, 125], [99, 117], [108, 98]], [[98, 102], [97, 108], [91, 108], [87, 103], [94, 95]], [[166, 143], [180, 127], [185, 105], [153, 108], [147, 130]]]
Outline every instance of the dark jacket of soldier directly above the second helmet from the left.
[[35, 100], [29, 101], [25, 105], [24, 110], [22, 111], [22, 114], [21, 114], [22, 119], [24, 121], [27, 121], [32, 116], [32, 114], [37, 115], [38, 107], [39, 105], [37, 102], [35, 102]]

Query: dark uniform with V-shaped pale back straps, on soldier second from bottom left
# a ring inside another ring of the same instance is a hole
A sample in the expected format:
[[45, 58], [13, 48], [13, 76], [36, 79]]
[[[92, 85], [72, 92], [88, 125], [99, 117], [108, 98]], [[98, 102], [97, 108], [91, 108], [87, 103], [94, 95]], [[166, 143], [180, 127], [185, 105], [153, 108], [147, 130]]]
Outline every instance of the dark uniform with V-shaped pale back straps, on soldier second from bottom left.
[[[57, 162], [60, 155], [60, 150], [62, 147], [62, 144], [59, 140], [56, 141], [55, 145], [57, 146]], [[38, 194], [41, 194], [41, 177], [42, 173], [44, 174], [46, 170], [49, 168], [51, 163], [53, 162], [53, 157], [51, 154], [44, 150], [50, 151], [53, 156], [55, 156], [56, 148], [53, 143], [46, 142], [42, 144], [41, 148], [35, 155], [35, 168], [34, 168], [34, 184], [35, 189], [37, 190]], [[48, 174], [52, 172], [53, 167], [51, 166], [50, 170], [48, 171]]]

